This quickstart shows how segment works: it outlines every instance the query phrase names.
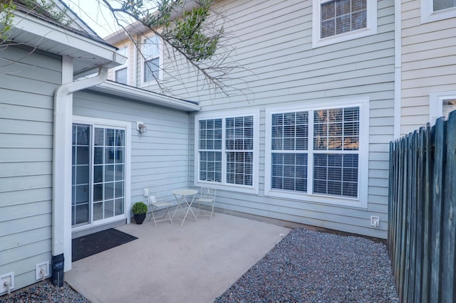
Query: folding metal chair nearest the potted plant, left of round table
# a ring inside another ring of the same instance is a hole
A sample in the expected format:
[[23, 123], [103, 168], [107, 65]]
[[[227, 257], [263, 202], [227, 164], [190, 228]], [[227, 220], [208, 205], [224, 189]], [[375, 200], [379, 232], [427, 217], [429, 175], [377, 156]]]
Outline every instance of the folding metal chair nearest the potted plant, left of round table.
[[[166, 201], [166, 186], [165, 184], [155, 181], [151, 182], [148, 185], [148, 199], [149, 199], [149, 207], [150, 207], [150, 219], [154, 219], [155, 227], [157, 226], [157, 222], [167, 221], [170, 220], [172, 223], [172, 218], [170, 215], [170, 207], [172, 206], [171, 202]], [[160, 209], [159, 209], [160, 208]], [[165, 213], [159, 219], [155, 218], [155, 214], [157, 211], [163, 211]]]

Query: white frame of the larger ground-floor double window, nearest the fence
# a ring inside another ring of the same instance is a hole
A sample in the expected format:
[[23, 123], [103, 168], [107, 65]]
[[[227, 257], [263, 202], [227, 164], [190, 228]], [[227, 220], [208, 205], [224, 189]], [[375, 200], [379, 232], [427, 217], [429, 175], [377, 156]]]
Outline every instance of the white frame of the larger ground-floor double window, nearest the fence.
[[[325, 104], [326, 103], [326, 104]], [[271, 187], [271, 163], [274, 152], [271, 149], [271, 126], [272, 115], [286, 112], [309, 112], [309, 155], [314, 153], [313, 149], [313, 119], [311, 112], [314, 110], [326, 110], [341, 107], [359, 107], [359, 149], [358, 149], [358, 197], [330, 196], [321, 193], [312, 193], [314, 179], [314, 159], [308, 157], [307, 163], [307, 188], [308, 191], [285, 191]], [[294, 199], [298, 201], [309, 201], [315, 203], [335, 204], [338, 206], [352, 206], [367, 208], [368, 206], [368, 149], [369, 149], [369, 99], [340, 100], [336, 102], [306, 102], [301, 107], [274, 107], [266, 109], [266, 138], [265, 138], [265, 167], [264, 167], [264, 194], [276, 198]], [[310, 135], [312, 134], [312, 135]], [[310, 190], [310, 191], [309, 191]]]

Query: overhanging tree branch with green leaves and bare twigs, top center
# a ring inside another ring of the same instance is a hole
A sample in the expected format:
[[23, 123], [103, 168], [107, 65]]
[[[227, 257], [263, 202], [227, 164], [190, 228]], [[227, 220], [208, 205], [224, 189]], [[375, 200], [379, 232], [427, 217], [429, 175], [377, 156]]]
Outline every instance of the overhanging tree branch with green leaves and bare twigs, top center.
[[[122, 22], [123, 19], [120, 19], [122, 15], [134, 18], [170, 46], [173, 55], [169, 58], [174, 59], [172, 62], [177, 61], [177, 53], [185, 58], [197, 73], [203, 75], [207, 84], [216, 92], [228, 95], [228, 86], [224, 80], [232, 70], [239, 68], [239, 65], [227, 65], [232, 49], [229, 50], [221, 42], [225, 33], [222, 25], [217, 27], [217, 22], [223, 24], [223, 15], [221, 12], [209, 10], [213, 0], [192, 1], [192, 6], [188, 9], [184, 6], [188, 1], [161, 0], [154, 12], [150, 9], [141, 11], [138, 4], [132, 4], [131, 1], [123, 1], [120, 8], [115, 8], [108, 0], [100, 1], [113, 13], [115, 21], [126, 33], [127, 28]], [[132, 36], [130, 39], [136, 43]], [[137, 47], [144, 58], [142, 48], [138, 45]], [[171, 53], [168, 52], [169, 54]], [[156, 80], [160, 86], [160, 80]], [[164, 87], [160, 86], [160, 89], [164, 90]]]

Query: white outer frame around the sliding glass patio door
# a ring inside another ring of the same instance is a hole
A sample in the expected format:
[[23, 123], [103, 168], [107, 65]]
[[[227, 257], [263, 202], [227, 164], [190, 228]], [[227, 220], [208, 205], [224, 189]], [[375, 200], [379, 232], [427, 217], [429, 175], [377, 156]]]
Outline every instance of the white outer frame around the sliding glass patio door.
[[[131, 122], [125, 121], [117, 121], [111, 119], [101, 119], [101, 118], [94, 118], [94, 117], [86, 117], [86, 116], [78, 116], [73, 115], [73, 124], [87, 124], [90, 125], [92, 128], [97, 127], [98, 125], [101, 127], [117, 127], [125, 129], [125, 206], [124, 206], [124, 215], [125, 216], [115, 216], [107, 219], [103, 219], [101, 221], [95, 221], [88, 225], [81, 225], [76, 228], [72, 228], [71, 231], [78, 232], [81, 230], [86, 230], [93, 228], [97, 225], [104, 225], [111, 222], [115, 222], [118, 220], [127, 219], [127, 223], [130, 223], [130, 212], [131, 212]], [[93, 166], [93, 163], [90, 164]], [[90, 178], [91, 179], [91, 178]], [[90, 184], [92, 181], [90, 181]]]

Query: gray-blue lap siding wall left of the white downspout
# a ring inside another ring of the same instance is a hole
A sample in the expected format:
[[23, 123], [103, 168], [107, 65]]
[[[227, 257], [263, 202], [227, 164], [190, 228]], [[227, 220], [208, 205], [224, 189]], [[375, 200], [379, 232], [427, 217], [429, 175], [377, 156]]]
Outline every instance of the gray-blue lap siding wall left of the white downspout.
[[36, 282], [51, 262], [53, 93], [61, 58], [8, 46], [0, 50], [0, 275], [15, 289]]

